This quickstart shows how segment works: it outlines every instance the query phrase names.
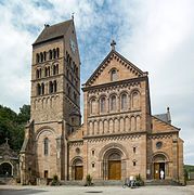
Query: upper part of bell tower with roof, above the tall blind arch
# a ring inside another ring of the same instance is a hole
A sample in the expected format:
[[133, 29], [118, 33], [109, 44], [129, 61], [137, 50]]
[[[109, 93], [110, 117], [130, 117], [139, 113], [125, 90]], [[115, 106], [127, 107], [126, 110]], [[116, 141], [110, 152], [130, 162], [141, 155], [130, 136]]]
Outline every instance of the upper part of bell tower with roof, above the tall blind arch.
[[33, 44], [31, 119], [65, 120], [69, 126], [79, 126], [79, 66], [74, 21], [44, 25]]

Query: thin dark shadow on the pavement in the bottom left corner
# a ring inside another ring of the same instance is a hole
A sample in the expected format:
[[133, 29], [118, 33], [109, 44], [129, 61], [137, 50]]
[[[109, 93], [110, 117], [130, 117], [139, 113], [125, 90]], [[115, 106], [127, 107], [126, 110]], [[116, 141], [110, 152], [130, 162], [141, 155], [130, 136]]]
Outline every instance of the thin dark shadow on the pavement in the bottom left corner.
[[47, 192], [47, 191], [33, 190], [33, 188], [24, 188], [24, 190], [0, 188], [0, 195], [25, 195], [25, 194], [38, 194], [42, 192]]

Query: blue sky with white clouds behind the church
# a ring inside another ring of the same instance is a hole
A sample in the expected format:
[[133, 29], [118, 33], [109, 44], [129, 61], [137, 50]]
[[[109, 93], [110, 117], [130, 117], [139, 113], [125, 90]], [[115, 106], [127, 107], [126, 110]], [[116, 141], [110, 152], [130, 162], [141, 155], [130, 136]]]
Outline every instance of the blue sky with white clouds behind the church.
[[116, 51], [148, 72], [152, 114], [170, 107], [184, 140], [184, 162], [194, 165], [193, 0], [0, 0], [0, 104], [15, 112], [29, 104], [31, 44], [44, 24], [73, 13], [81, 83], [114, 39]]

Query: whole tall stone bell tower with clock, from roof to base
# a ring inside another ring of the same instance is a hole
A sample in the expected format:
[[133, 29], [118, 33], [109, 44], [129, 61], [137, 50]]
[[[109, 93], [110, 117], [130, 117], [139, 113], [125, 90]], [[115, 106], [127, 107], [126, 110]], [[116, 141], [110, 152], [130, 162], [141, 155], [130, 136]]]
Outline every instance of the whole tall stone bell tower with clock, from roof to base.
[[80, 127], [80, 58], [74, 20], [44, 25], [33, 44], [30, 122], [21, 151], [22, 183], [66, 180], [67, 138]]

